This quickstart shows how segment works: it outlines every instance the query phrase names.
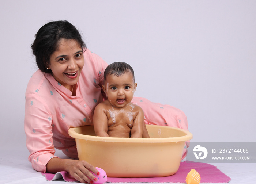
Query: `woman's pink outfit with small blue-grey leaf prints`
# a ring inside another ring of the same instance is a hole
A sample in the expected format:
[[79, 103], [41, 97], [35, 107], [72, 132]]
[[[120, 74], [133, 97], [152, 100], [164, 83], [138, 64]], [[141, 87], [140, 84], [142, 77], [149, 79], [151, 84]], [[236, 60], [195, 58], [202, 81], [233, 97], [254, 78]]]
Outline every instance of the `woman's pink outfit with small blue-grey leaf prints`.
[[[76, 96], [71, 96], [71, 91], [61, 86], [51, 74], [40, 70], [33, 74], [26, 90], [25, 133], [29, 161], [35, 170], [46, 172], [46, 164], [56, 157], [55, 148], [71, 158], [78, 158], [75, 139], [68, 135], [68, 129], [93, 125], [94, 108], [105, 97], [101, 85], [107, 65], [87, 49]], [[181, 110], [138, 97], [132, 102], [142, 107], [146, 124], [188, 130], [187, 118]], [[183, 157], [186, 150], [185, 147]]]

